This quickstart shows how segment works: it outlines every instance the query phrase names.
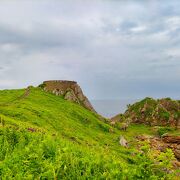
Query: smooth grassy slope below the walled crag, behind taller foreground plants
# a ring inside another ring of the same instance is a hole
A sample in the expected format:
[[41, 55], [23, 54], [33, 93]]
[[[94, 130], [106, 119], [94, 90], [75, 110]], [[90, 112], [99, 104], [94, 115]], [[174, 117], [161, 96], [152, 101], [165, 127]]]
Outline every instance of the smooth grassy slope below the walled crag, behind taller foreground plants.
[[[80, 105], [39, 88], [31, 88], [25, 98], [15, 98], [23, 96], [25, 91], [1, 91], [1, 114], [83, 144], [99, 144], [99, 139], [108, 144], [109, 139], [112, 139], [110, 126]], [[101, 138], [102, 133], [106, 138]]]

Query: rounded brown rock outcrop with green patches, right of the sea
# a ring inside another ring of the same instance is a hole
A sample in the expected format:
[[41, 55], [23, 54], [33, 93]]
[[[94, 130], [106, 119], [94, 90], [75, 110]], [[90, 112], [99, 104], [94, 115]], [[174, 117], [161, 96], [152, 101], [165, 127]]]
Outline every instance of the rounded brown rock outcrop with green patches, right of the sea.
[[145, 98], [130, 105], [125, 117], [133, 123], [180, 128], [180, 101]]

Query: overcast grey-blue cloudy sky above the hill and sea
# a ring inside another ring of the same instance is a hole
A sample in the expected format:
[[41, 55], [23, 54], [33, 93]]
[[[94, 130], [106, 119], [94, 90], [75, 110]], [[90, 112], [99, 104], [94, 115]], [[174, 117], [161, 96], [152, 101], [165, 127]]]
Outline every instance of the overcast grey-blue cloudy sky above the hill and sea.
[[0, 89], [49, 79], [90, 99], [180, 99], [180, 1], [1, 1]]

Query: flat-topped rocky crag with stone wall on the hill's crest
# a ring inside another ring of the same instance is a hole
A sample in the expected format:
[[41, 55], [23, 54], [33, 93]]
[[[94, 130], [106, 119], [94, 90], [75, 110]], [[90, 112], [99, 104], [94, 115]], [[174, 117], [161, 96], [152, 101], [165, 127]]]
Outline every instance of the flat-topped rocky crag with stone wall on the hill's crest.
[[75, 81], [44, 81], [41, 87], [43, 87], [45, 91], [52, 92], [57, 96], [62, 95], [64, 96], [64, 99], [76, 102], [86, 109], [95, 112], [91, 103], [83, 94], [82, 89]]

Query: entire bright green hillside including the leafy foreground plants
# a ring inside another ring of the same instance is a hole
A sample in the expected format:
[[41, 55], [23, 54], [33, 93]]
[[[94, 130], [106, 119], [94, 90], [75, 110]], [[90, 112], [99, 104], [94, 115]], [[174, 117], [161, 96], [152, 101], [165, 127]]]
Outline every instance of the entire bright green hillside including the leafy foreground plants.
[[[130, 144], [144, 125], [127, 132], [41, 88], [0, 91], [0, 179], [148, 179], [171, 177]], [[146, 148], [145, 148], [146, 147]], [[150, 168], [151, 167], [151, 168]]]

